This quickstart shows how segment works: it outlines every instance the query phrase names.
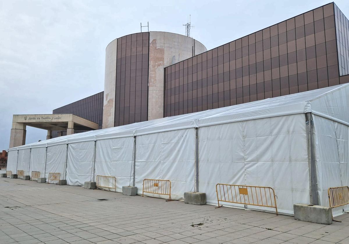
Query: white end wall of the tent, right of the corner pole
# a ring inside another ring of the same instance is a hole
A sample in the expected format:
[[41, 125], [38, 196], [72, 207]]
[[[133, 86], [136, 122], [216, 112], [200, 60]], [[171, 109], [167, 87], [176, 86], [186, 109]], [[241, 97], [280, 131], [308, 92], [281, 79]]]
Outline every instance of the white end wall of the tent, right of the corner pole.
[[[313, 121], [319, 205], [328, 207], [328, 188], [348, 185], [348, 127], [317, 115]], [[342, 209], [333, 208], [333, 215]]]

